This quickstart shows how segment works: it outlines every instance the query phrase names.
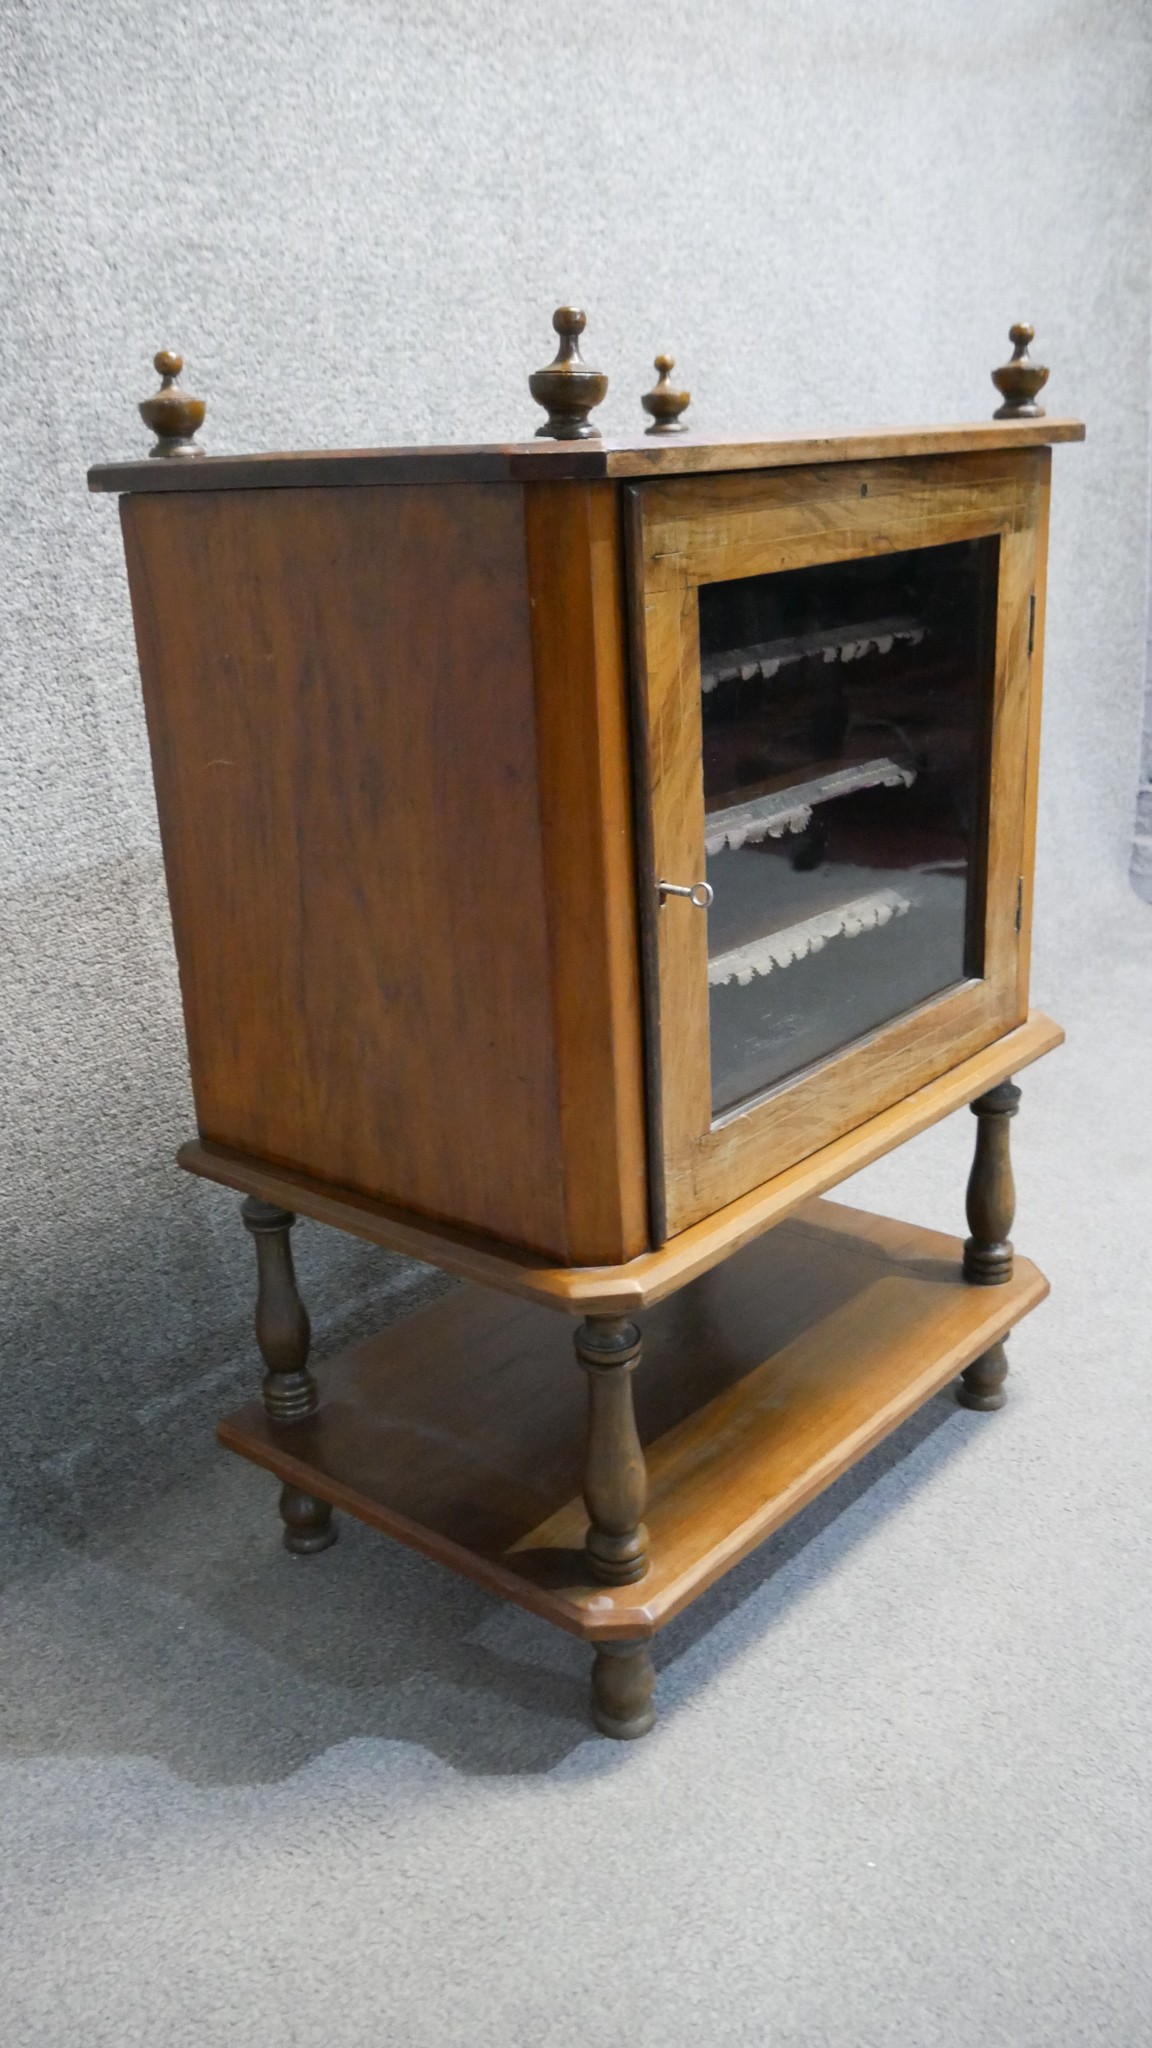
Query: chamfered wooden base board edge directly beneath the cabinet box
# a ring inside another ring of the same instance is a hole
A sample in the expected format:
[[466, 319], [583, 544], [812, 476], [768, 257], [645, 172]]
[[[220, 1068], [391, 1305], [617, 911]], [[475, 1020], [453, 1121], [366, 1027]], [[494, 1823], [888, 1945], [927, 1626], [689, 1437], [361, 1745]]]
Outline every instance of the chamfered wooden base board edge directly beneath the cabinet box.
[[937, 1124], [941, 1116], [949, 1116], [965, 1102], [974, 1102], [976, 1096], [984, 1096], [998, 1081], [1006, 1081], [1011, 1073], [1019, 1073], [1021, 1067], [1029, 1067], [1033, 1059], [1041, 1059], [1043, 1053], [1052, 1053], [1062, 1042], [1060, 1024], [1033, 1012], [1019, 1030], [1006, 1032], [1004, 1038], [984, 1047], [927, 1087], [918, 1087], [904, 1102], [871, 1116], [847, 1137], [812, 1153], [787, 1174], [779, 1174], [767, 1186], [754, 1188], [691, 1231], [683, 1231], [660, 1251], [644, 1251], [627, 1266], [549, 1266], [545, 1260], [529, 1260], [500, 1247], [492, 1239], [437, 1229], [420, 1217], [404, 1214], [404, 1210], [383, 1202], [371, 1202], [344, 1188], [328, 1188], [324, 1182], [289, 1174], [260, 1159], [246, 1159], [242, 1153], [203, 1139], [182, 1145], [178, 1163], [203, 1180], [215, 1180], [240, 1194], [256, 1194], [264, 1202], [277, 1202], [281, 1208], [312, 1217], [316, 1223], [328, 1223], [336, 1231], [367, 1237], [373, 1245], [387, 1245], [389, 1251], [406, 1251], [414, 1260], [426, 1260], [430, 1266], [441, 1266], [478, 1286], [521, 1294], [572, 1315], [629, 1315], [674, 1294], [689, 1280], [697, 1280], [699, 1274], [752, 1243], [763, 1231], [771, 1231], [775, 1223], [810, 1202], [812, 1196], [834, 1188], [849, 1174], [859, 1174], [873, 1159], [881, 1159], [883, 1153]]

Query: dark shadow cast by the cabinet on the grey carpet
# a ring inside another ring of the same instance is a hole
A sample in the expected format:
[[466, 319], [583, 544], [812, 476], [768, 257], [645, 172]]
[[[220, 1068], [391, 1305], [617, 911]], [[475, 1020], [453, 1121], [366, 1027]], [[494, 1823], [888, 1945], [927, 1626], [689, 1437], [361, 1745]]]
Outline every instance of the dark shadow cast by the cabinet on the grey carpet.
[[[664, 1722], [988, 1423], [937, 1395], [662, 1630]], [[100, 1536], [45, 1532], [0, 1595], [0, 1757], [143, 1753], [252, 1784], [365, 1737], [478, 1774], [547, 1772], [588, 1741], [586, 1645], [338, 1522], [330, 1550], [289, 1556], [275, 1481], [213, 1452]]]

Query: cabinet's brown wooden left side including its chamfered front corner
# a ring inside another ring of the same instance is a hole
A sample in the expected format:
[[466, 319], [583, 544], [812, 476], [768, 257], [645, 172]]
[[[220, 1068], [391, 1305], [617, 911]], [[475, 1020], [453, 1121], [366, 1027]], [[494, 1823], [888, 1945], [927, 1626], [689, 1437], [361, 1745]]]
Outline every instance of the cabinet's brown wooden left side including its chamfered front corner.
[[648, 1243], [617, 496], [123, 500], [207, 1139]]

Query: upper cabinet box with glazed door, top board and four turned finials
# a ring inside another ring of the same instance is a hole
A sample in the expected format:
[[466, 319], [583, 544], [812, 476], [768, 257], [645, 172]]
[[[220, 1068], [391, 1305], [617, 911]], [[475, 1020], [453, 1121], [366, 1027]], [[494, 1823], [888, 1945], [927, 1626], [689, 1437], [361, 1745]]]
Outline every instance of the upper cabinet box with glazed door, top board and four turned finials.
[[[1027, 1014], [1050, 420], [213, 453], [121, 522], [201, 1139], [623, 1266]], [[195, 369], [195, 367], [193, 367]], [[619, 385], [615, 387], [619, 401]], [[207, 422], [207, 426], [205, 426]], [[205, 434], [201, 434], [205, 428]]]

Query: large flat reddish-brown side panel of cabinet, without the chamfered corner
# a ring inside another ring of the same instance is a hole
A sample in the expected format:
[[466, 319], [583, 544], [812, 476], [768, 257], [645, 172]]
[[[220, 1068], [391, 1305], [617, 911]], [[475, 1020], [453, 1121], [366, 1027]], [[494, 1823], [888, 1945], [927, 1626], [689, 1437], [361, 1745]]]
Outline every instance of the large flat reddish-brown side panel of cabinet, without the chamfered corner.
[[521, 489], [121, 506], [201, 1133], [564, 1260]]

